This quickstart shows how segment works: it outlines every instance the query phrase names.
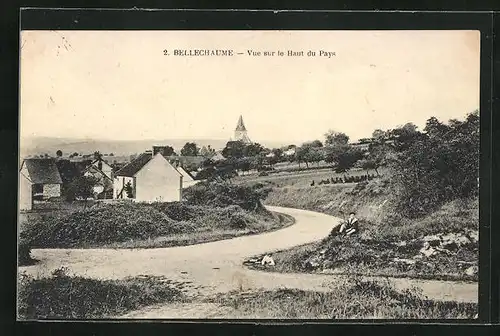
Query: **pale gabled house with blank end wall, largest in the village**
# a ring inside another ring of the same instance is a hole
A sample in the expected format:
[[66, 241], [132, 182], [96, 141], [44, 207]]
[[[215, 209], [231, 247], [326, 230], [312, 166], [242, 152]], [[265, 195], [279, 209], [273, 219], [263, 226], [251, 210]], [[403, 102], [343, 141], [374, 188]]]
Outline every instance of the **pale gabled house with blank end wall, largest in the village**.
[[140, 154], [115, 173], [113, 198], [137, 202], [182, 200], [183, 175], [162, 155]]

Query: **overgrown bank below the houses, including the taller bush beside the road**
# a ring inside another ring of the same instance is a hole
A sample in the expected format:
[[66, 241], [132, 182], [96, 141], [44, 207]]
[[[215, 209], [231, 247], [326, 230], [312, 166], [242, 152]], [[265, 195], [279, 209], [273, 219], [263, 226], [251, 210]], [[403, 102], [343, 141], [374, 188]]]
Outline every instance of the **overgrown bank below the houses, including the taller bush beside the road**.
[[[206, 182], [188, 188], [183, 202], [96, 203], [87, 209], [40, 214], [23, 224], [20, 262], [29, 261], [30, 248], [96, 247], [130, 241], [141, 247], [148, 247], [143, 241], [151, 241], [149, 247], [159, 247], [154, 242], [159, 237], [175, 236], [189, 242], [189, 235], [194, 235], [195, 242], [202, 242], [289, 224], [261, 205], [265, 194], [261, 186]], [[178, 245], [170, 240], [162, 244]]]

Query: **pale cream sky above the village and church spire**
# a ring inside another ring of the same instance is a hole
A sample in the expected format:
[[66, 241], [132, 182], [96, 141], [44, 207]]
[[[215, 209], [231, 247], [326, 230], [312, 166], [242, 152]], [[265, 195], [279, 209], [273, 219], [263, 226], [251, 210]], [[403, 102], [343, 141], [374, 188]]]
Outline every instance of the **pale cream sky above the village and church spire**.
[[[479, 108], [478, 31], [22, 31], [21, 137], [351, 140]], [[163, 50], [170, 53], [165, 56]], [[172, 56], [232, 49], [233, 57]], [[275, 56], [248, 56], [247, 50]], [[287, 51], [316, 56], [286, 56]], [[319, 50], [335, 56], [319, 56]], [[283, 51], [285, 56], [277, 56]]]

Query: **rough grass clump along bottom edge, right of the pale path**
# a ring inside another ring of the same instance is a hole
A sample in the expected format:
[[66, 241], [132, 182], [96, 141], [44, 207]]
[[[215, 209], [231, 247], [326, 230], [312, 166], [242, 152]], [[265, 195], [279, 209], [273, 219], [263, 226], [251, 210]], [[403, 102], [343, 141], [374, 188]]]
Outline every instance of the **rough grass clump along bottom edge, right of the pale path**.
[[278, 289], [220, 295], [216, 302], [243, 318], [271, 319], [472, 319], [477, 303], [433, 301], [416, 289], [350, 279], [329, 292]]

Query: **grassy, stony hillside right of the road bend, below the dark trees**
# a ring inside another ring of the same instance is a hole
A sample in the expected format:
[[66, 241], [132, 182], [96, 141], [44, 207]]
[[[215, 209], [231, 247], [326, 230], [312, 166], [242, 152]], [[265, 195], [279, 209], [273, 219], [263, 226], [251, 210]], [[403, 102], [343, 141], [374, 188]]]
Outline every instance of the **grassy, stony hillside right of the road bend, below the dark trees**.
[[[456, 199], [426, 216], [397, 213], [388, 179], [357, 185], [275, 187], [266, 204], [343, 217], [355, 211], [360, 232], [273, 254], [275, 271], [477, 280], [479, 201]], [[421, 253], [429, 242], [434, 253]], [[255, 266], [258, 267], [258, 266]]]

